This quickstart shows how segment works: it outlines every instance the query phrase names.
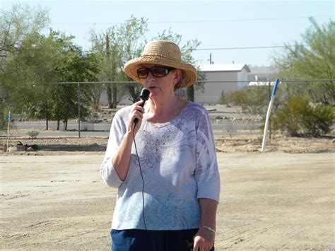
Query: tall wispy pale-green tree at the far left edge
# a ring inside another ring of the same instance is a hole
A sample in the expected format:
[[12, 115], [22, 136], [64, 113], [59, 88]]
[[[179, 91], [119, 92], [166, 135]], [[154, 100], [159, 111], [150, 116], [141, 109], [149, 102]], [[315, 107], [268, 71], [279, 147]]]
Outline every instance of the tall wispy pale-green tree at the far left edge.
[[[32, 88], [27, 82], [37, 77], [37, 71], [45, 67], [24, 69], [18, 55], [25, 52], [25, 59], [38, 60], [32, 57], [33, 50], [40, 49], [40, 33], [48, 24], [48, 13], [42, 8], [14, 4], [9, 11], [0, 9], [0, 107], [11, 107], [12, 110], [14, 103], [22, 106], [37, 95], [37, 92], [30, 91]], [[22, 89], [19, 91], [18, 86], [21, 84]], [[1, 113], [6, 114], [1, 110]]]

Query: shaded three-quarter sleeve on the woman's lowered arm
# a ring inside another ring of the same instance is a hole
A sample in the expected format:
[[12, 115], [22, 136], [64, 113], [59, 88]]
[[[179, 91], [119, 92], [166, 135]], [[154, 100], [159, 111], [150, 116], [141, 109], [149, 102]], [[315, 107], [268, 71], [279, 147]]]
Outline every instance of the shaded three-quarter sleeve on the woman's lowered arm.
[[194, 177], [198, 186], [196, 197], [220, 199], [220, 175], [216, 148], [208, 112], [203, 110], [196, 126], [196, 169]]

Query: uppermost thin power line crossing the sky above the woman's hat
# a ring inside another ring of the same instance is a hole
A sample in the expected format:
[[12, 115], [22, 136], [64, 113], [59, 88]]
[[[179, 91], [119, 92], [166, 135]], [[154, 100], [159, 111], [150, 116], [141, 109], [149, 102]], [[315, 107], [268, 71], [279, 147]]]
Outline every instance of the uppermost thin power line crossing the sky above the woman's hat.
[[[313, 16], [314, 18], [326, 18], [333, 17], [331, 15], [322, 15], [322, 16]], [[282, 18], [242, 18], [242, 19], [224, 19], [224, 20], [196, 20], [196, 21], [153, 21], [148, 22], [151, 24], [160, 24], [160, 23], [225, 23], [225, 22], [245, 22], [245, 21], [271, 21], [271, 20], [289, 20], [289, 19], [305, 19], [310, 18], [310, 16], [290, 16]], [[121, 24], [122, 22], [114, 23], [51, 23], [52, 25], [113, 25]]]

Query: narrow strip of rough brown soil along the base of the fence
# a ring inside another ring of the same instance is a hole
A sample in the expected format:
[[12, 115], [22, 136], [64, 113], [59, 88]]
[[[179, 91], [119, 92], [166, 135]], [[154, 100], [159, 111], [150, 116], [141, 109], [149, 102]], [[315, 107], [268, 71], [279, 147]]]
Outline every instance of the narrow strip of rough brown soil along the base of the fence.
[[[257, 134], [222, 136], [215, 135], [216, 151], [224, 153], [257, 152], [261, 149], [262, 136]], [[15, 146], [18, 141], [22, 144], [37, 144], [38, 151], [4, 153], [1, 151], [6, 138], [0, 138], [1, 154], [18, 155], [67, 155], [67, 154], [96, 154], [104, 153], [107, 146], [107, 137], [11, 137], [9, 143]], [[266, 151], [281, 151], [286, 153], [325, 153], [335, 152], [335, 136], [288, 137], [280, 134], [271, 136], [266, 141]]]

